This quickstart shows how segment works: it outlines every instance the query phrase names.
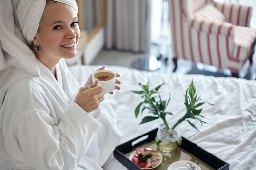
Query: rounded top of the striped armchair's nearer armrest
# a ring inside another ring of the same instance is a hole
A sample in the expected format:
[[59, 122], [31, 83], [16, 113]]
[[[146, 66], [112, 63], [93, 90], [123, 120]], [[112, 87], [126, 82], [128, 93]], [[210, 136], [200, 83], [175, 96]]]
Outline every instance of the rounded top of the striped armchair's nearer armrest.
[[234, 37], [234, 28], [230, 23], [215, 23], [206, 22], [197, 19], [190, 20], [190, 27], [197, 30], [197, 32], [204, 32], [206, 34], [221, 34], [225, 36]]

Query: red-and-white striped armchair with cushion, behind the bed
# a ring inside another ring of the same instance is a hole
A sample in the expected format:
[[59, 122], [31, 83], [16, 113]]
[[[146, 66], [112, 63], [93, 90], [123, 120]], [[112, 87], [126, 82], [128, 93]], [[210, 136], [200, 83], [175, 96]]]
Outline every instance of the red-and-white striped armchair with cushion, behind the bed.
[[256, 30], [250, 28], [252, 8], [213, 0], [170, 0], [174, 63], [192, 62], [228, 68], [232, 76], [252, 54]]

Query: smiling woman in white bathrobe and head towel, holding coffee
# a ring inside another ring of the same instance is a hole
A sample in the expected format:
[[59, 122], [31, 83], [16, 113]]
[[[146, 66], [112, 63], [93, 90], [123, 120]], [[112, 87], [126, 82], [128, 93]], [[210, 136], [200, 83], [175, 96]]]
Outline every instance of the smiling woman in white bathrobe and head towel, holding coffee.
[[0, 170], [101, 169], [121, 135], [115, 101], [103, 104], [91, 76], [80, 88], [64, 62], [80, 36], [76, 2], [0, 3]]

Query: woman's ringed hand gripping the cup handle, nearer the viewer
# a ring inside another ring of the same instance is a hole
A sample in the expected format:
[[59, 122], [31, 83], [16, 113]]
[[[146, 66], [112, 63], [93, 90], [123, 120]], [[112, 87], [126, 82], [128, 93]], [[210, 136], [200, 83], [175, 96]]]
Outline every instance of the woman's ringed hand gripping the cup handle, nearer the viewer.
[[98, 80], [91, 84], [90, 88], [81, 87], [75, 98], [75, 102], [88, 113], [96, 110], [104, 100], [103, 87], [97, 84]]

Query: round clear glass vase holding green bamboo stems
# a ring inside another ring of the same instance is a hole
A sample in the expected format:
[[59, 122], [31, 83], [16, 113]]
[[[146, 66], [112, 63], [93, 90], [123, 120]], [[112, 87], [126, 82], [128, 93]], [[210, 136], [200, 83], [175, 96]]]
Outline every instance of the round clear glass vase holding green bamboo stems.
[[170, 153], [176, 151], [178, 146], [181, 145], [181, 135], [178, 128], [169, 129], [165, 128], [163, 121], [158, 122], [158, 132], [156, 135], [156, 143], [158, 150]]

